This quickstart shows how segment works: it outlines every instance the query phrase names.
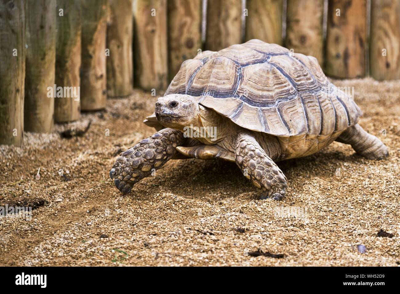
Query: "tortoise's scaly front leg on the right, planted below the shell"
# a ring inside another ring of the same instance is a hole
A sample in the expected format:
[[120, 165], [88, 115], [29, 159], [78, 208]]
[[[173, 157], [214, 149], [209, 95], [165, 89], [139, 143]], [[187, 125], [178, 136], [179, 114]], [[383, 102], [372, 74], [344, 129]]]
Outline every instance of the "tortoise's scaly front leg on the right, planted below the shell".
[[285, 175], [250, 132], [238, 134], [235, 160], [244, 176], [267, 197], [280, 200], [285, 195], [288, 186]]

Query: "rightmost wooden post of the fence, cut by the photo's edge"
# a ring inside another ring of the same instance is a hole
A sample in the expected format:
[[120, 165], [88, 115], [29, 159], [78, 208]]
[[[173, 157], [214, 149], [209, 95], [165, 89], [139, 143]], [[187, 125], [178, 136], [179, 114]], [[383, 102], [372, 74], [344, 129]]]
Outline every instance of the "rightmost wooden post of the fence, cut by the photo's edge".
[[400, 1], [371, 2], [370, 74], [377, 80], [400, 79]]

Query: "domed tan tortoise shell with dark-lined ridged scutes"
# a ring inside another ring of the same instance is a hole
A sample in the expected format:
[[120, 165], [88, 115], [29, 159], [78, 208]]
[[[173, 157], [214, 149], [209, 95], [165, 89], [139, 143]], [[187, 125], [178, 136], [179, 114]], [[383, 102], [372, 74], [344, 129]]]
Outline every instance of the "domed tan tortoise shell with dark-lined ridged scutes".
[[362, 115], [316, 58], [250, 40], [186, 60], [165, 95], [188, 94], [243, 128], [275, 136], [330, 135]]

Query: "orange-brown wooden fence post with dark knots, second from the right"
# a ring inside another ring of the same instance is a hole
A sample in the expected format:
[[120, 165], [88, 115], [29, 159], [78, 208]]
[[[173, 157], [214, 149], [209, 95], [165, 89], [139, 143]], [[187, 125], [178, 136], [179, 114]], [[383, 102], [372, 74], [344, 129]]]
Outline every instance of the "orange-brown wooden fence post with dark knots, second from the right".
[[358, 78], [366, 71], [366, 0], [330, 0], [326, 29], [325, 73]]

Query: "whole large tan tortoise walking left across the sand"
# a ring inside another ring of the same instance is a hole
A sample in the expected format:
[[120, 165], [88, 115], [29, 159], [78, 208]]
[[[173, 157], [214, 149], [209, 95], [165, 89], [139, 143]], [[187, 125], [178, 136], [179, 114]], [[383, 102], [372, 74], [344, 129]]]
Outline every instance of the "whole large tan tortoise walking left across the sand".
[[281, 199], [287, 179], [276, 162], [313, 154], [333, 141], [361, 156], [388, 149], [358, 124], [362, 112], [316, 58], [250, 40], [186, 60], [144, 123], [158, 130], [121, 153], [116, 187], [133, 185], [172, 158], [236, 162], [264, 197]]

